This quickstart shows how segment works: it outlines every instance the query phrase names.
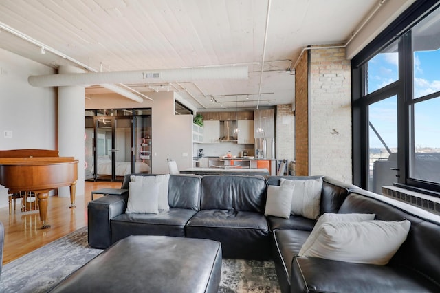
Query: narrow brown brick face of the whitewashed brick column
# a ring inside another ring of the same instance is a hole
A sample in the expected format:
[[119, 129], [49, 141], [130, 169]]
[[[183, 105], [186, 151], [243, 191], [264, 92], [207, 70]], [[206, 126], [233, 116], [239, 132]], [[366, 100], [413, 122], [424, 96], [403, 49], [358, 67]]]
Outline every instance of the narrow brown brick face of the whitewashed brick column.
[[298, 176], [309, 175], [308, 61], [305, 51], [295, 68], [295, 160]]

